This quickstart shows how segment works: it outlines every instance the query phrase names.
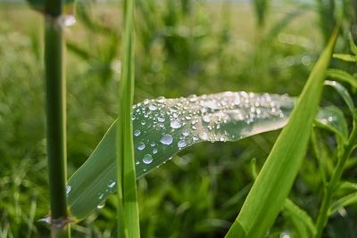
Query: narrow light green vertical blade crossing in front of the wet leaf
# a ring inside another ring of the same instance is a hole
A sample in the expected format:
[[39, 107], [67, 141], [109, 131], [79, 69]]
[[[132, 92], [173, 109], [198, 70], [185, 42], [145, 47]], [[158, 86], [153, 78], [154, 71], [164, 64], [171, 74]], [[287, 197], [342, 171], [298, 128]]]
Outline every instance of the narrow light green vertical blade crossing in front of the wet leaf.
[[134, 95], [134, 0], [124, 1], [124, 34], [117, 128], [118, 237], [140, 237], [131, 108]]

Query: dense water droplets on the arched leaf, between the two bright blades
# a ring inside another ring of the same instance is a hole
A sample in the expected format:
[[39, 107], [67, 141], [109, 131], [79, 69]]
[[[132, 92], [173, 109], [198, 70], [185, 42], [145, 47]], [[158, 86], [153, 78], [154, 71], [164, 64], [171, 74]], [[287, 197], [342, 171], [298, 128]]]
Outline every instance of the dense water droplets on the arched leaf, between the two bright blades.
[[246, 92], [146, 99], [132, 113], [136, 164], [154, 167], [161, 164], [155, 157], [162, 161], [170, 150], [168, 158], [200, 141], [233, 141], [281, 127], [277, 123], [285, 123], [294, 103], [287, 95]]

